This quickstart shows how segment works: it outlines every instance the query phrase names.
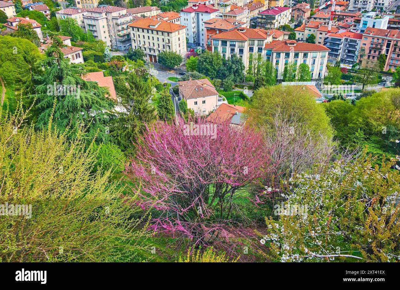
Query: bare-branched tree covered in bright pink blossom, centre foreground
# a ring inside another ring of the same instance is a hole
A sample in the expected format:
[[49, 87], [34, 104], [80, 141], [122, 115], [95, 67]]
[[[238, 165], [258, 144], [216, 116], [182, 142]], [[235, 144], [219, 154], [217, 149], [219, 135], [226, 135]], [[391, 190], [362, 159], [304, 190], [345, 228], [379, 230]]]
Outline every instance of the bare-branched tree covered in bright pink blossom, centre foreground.
[[262, 202], [256, 182], [272, 179], [272, 150], [248, 127], [178, 121], [147, 129], [126, 174], [140, 188], [140, 206], [156, 209], [154, 230], [202, 244], [226, 238], [236, 200]]

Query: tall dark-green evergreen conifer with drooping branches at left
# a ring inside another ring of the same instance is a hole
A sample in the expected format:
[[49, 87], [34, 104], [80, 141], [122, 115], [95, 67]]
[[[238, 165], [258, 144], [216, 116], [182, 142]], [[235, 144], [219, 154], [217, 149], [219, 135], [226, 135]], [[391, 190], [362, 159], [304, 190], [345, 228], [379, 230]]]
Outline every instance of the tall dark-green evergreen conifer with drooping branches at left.
[[52, 45], [46, 50], [46, 58], [41, 62], [42, 74], [34, 76], [37, 108], [40, 112], [38, 128], [46, 127], [50, 118], [52, 126], [58, 130], [70, 132], [75, 138], [78, 127], [83, 127], [86, 137], [92, 140], [107, 142], [108, 121], [112, 117], [114, 102], [105, 96], [106, 88], [99, 87], [97, 82], [85, 81], [81, 78], [86, 71], [81, 64], [70, 64], [64, 58], [61, 49], [65, 46], [58, 36], [50, 36]]

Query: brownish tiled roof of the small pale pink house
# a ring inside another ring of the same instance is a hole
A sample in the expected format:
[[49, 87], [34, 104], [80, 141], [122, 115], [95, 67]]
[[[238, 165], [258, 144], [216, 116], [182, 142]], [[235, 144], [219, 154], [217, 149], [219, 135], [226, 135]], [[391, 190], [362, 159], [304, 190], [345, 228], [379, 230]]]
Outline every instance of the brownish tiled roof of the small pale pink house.
[[185, 80], [178, 82], [178, 85], [179, 91], [186, 100], [218, 95], [214, 86], [206, 78], [201, 80]]

